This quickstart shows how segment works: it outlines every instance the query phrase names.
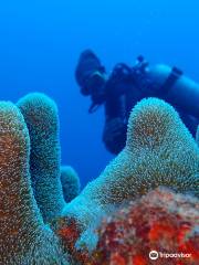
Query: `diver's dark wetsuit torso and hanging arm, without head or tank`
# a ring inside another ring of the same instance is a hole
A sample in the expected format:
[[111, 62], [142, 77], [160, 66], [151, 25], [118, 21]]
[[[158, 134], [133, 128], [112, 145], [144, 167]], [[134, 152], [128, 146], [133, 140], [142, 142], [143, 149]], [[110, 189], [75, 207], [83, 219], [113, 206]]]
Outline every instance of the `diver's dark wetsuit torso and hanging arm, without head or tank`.
[[[122, 65], [124, 66], [124, 65]], [[116, 65], [113, 74], [106, 82], [106, 102], [105, 102], [105, 127], [103, 132], [103, 141], [106, 148], [113, 152], [118, 153], [126, 142], [127, 121], [132, 108], [145, 97], [158, 97], [170, 103], [179, 113], [180, 118], [187, 126], [192, 136], [196, 136], [199, 119], [195, 116], [188, 115], [179, 106], [175, 106], [164, 94], [156, 83], [147, 80], [145, 74], [140, 81], [132, 78], [132, 75], [121, 75], [121, 64]], [[158, 89], [157, 89], [158, 88]], [[114, 123], [115, 120], [115, 123]], [[115, 127], [115, 128], [114, 128]]]

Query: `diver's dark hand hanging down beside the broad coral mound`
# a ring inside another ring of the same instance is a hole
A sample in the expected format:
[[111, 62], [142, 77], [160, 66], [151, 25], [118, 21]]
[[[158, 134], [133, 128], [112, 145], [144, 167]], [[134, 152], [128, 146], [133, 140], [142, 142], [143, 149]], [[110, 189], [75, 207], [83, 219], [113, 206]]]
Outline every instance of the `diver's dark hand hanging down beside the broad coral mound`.
[[103, 140], [107, 149], [113, 153], [118, 153], [126, 142], [127, 126], [119, 117], [106, 120]]

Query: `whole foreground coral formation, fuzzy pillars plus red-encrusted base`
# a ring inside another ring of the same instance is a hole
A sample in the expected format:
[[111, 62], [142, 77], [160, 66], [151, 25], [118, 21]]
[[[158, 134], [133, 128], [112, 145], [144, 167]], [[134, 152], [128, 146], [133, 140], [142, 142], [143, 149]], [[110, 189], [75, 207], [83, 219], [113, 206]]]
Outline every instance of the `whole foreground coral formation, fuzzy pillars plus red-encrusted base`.
[[81, 193], [59, 126], [43, 94], [0, 103], [0, 265], [199, 264], [198, 135], [169, 104], [134, 107], [126, 147]]

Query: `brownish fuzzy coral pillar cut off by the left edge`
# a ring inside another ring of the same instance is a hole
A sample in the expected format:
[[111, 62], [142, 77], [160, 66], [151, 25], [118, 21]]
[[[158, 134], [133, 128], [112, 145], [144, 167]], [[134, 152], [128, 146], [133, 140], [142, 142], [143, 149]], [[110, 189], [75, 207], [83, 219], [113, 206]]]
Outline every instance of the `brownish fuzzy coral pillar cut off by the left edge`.
[[20, 110], [0, 103], [0, 264], [66, 265], [59, 239], [43, 223], [29, 172], [30, 138]]

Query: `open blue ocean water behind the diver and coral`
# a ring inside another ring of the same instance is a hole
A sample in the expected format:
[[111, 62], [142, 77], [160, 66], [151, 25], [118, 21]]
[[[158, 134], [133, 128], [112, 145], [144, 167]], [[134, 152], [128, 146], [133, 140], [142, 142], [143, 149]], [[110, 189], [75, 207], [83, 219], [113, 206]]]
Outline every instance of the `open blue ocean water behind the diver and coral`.
[[88, 115], [75, 83], [81, 51], [93, 49], [108, 71], [143, 54], [199, 81], [198, 10], [198, 0], [1, 1], [0, 99], [36, 91], [56, 102], [62, 163], [85, 186], [113, 156], [102, 142], [103, 108]]

